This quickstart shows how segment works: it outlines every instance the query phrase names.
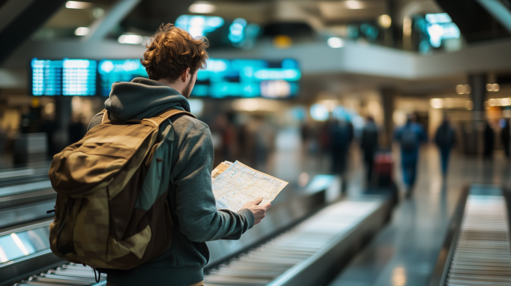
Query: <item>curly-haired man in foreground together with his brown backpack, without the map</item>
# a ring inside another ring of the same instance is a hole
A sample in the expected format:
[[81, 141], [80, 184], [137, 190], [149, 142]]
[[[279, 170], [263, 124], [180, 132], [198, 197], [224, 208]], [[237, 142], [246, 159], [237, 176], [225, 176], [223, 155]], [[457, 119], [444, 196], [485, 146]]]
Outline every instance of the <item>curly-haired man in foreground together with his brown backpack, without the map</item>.
[[206, 48], [162, 25], [142, 60], [149, 79], [114, 83], [85, 137], [53, 159], [51, 249], [107, 285], [204, 285], [205, 242], [239, 239], [271, 206], [217, 210], [211, 132], [187, 100]]

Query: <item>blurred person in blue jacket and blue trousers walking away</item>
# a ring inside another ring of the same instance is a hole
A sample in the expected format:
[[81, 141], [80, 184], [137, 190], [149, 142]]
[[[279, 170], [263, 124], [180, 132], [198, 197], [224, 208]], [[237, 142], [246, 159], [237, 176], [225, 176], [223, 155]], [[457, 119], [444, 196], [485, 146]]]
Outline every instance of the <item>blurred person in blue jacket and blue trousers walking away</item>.
[[415, 183], [419, 147], [427, 140], [428, 136], [424, 127], [415, 122], [415, 116], [412, 114], [408, 115], [406, 124], [394, 132], [394, 141], [401, 145], [401, 167], [403, 168], [403, 181], [406, 185], [407, 197], [411, 196]]

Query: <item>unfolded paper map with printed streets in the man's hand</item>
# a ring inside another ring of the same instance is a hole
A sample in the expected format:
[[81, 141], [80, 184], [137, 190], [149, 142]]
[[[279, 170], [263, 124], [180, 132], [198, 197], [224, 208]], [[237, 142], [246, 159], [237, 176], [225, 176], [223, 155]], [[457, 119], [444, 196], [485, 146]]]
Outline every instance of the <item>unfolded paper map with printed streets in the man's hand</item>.
[[218, 209], [237, 212], [258, 197], [263, 197], [261, 204], [271, 202], [287, 184], [236, 161], [213, 179], [213, 194]]

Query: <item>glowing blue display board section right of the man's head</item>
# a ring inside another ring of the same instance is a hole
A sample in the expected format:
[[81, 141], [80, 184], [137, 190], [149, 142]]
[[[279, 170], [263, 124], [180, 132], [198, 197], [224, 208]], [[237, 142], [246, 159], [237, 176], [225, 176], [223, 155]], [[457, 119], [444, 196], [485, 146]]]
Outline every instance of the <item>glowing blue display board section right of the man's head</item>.
[[301, 73], [292, 59], [207, 60], [206, 69], [197, 73], [192, 96], [224, 97], [292, 97], [299, 92]]

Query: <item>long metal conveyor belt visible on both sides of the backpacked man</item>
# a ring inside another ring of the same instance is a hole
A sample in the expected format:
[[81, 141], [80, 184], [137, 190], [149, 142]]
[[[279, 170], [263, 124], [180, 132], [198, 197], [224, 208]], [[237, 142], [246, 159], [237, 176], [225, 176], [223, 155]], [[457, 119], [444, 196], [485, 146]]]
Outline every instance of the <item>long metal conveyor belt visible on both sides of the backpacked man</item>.
[[[334, 176], [316, 175], [305, 188], [286, 189], [263, 223], [240, 240], [207, 242], [206, 285], [326, 284], [390, 213], [388, 197], [339, 199], [340, 182]], [[0, 228], [0, 286], [105, 285], [105, 275], [96, 283], [90, 267], [53, 255], [50, 222], [45, 218]]]

